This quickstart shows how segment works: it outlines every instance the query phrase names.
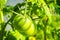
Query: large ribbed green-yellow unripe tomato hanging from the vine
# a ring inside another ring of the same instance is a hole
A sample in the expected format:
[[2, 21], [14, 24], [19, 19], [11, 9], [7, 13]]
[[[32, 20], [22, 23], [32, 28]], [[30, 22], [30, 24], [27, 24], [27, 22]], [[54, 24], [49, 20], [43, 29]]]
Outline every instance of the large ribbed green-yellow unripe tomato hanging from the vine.
[[24, 35], [35, 35], [36, 26], [29, 16], [16, 15], [13, 20], [13, 26]]

